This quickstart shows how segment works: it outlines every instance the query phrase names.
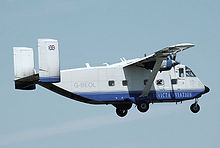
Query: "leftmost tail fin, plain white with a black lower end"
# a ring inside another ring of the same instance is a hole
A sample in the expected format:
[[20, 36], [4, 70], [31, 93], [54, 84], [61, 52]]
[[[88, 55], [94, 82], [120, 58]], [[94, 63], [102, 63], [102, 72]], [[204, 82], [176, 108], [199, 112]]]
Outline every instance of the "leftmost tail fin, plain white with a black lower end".
[[13, 47], [15, 88], [23, 90], [35, 89], [31, 79], [35, 75], [34, 52], [32, 48]]

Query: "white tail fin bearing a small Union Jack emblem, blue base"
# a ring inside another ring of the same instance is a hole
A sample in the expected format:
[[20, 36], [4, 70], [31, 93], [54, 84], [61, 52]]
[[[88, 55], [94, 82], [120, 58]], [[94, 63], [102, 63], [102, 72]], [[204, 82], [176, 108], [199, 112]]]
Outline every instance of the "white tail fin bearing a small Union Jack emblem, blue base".
[[39, 81], [60, 82], [58, 41], [38, 39]]

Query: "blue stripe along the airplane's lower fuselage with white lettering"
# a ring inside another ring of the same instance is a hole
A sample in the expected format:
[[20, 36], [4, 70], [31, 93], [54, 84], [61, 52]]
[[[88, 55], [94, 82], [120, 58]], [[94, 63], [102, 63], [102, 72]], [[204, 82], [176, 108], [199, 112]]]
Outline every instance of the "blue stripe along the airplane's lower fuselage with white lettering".
[[150, 91], [146, 97], [139, 97], [142, 93], [141, 91], [90, 92], [76, 94], [95, 101], [122, 101], [124, 99], [130, 99], [135, 103], [138, 100], [188, 100], [201, 94], [203, 91], [204, 90]]

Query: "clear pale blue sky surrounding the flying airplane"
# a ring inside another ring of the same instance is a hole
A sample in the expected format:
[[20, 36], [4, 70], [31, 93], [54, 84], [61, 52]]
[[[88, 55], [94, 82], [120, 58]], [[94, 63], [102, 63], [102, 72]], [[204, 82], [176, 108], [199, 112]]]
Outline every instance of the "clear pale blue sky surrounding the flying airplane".
[[[1, 148], [207, 148], [220, 147], [220, 1], [218, 0], [1, 0]], [[61, 69], [119, 62], [178, 43], [196, 46], [177, 60], [211, 91], [199, 99], [133, 106], [125, 118], [111, 105], [73, 101], [40, 86], [14, 89], [14, 46], [34, 48], [37, 39], [59, 41]]]

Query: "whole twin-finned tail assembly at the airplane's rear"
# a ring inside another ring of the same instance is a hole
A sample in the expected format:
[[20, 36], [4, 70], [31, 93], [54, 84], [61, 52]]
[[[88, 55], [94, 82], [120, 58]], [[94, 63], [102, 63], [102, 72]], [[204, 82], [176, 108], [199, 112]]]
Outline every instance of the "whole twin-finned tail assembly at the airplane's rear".
[[13, 47], [15, 88], [33, 90], [36, 83], [60, 82], [58, 41], [38, 39], [39, 74], [34, 68], [33, 48]]

